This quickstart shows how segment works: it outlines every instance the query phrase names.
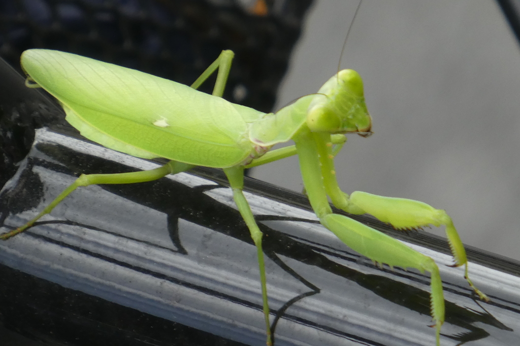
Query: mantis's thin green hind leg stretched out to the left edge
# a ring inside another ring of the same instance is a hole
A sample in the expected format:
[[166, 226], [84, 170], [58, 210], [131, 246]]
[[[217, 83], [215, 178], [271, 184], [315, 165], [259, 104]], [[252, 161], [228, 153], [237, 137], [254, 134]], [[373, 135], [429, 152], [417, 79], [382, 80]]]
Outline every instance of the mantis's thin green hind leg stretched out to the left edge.
[[143, 183], [162, 178], [171, 173], [179, 173], [190, 169], [192, 166], [186, 163], [170, 161], [167, 164], [149, 171], [116, 173], [116, 174], [82, 174], [68, 188], [50, 202], [40, 214], [36, 215], [27, 224], [18, 227], [15, 230], [0, 235], [0, 240], [7, 240], [16, 234], [23, 232], [31, 227], [42, 216], [49, 214], [64, 198], [70, 195], [72, 191], [80, 186], [97, 185], [97, 184], [132, 184]]

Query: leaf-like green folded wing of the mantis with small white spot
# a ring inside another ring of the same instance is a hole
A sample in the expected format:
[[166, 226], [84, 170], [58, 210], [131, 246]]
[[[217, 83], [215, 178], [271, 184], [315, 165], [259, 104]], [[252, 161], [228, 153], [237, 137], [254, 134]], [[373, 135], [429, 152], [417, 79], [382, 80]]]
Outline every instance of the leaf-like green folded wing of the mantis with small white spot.
[[255, 156], [248, 123], [264, 114], [177, 82], [75, 54], [31, 49], [25, 72], [88, 139], [124, 153], [206, 167]]

